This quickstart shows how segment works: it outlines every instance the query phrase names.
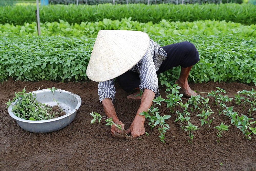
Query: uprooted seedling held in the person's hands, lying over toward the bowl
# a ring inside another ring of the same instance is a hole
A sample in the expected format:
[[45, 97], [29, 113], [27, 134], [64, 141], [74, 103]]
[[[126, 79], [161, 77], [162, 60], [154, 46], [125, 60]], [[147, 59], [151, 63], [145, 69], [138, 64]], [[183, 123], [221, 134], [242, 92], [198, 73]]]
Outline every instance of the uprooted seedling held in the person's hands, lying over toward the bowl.
[[[91, 120], [91, 124], [92, 123], [94, 124], [97, 119], [98, 119], [99, 123], [100, 123], [101, 119], [104, 119], [107, 122], [105, 125], [110, 125], [110, 126], [115, 125], [116, 127], [118, 127], [119, 130], [124, 131], [122, 129], [121, 125], [114, 123], [114, 121], [112, 120], [112, 117], [102, 116], [99, 113], [96, 113], [93, 111], [92, 111], [92, 113], [90, 113], [90, 115], [92, 115], [92, 117], [93, 117], [93, 119]], [[133, 138], [131, 136], [127, 135], [126, 133], [124, 136], [127, 140], [133, 140]]]

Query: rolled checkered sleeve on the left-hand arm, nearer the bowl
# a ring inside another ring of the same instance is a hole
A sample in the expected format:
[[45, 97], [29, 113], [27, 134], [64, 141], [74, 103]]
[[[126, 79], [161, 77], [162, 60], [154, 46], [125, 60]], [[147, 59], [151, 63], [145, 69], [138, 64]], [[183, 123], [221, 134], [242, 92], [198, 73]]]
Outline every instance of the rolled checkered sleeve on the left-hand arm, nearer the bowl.
[[99, 82], [98, 94], [100, 102], [105, 98], [111, 98], [112, 101], [115, 99], [115, 84], [114, 79]]

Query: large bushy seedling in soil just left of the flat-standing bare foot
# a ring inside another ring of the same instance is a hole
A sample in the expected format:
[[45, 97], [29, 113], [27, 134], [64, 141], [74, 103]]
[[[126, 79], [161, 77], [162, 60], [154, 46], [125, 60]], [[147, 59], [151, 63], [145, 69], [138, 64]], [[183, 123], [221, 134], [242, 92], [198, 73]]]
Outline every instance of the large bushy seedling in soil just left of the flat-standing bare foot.
[[181, 87], [178, 86], [178, 84], [174, 84], [173, 86], [170, 85], [170, 83], [168, 83], [168, 87], [165, 92], [169, 91], [170, 93], [166, 93], [166, 97], [168, 99], [165, 99], [164, 101], [167, 103], [167, 108], [170, 108], [170, 112], [173, 113], [174, 112], [174, 107], [178, 104], [180, 104], [180, 102], [182, 102], [181, 97], [183, 96], [183, 94], [179, 94], [179, 90]]

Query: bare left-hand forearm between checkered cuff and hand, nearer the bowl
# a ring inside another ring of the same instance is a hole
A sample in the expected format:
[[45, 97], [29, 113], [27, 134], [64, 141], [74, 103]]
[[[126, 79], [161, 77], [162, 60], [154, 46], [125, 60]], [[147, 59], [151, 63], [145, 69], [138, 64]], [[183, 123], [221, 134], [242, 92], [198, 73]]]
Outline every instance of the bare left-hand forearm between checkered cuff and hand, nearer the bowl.
[[102, 105], [104, 108], [104, 112], [108, 117], [112, 117], [114, 122], [119, 121], [119, 119], [116, 115], [116, 112], [115, 112], [113, 102], [110, 98], [103, 99]]

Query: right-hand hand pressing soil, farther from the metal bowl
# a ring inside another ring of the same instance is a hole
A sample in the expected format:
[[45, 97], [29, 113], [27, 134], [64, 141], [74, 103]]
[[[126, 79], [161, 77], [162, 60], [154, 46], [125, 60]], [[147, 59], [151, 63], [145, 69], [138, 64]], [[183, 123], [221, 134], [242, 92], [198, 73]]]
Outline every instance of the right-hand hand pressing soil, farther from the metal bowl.
[[144, 121], [145, 117], [143, 115], [136, 115], [131, 126], [126, 130], [126, 134], [131, 133], [133, 138], [145, 134]]

